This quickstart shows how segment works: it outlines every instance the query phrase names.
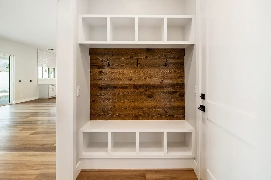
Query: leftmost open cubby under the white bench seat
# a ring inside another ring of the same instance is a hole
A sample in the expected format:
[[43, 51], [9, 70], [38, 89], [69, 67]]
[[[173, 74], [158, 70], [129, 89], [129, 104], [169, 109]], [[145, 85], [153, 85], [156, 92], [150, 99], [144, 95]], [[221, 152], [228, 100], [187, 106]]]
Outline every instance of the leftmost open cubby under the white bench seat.
[[108, 133], [83, 133], [82, 155], [108, 155]]

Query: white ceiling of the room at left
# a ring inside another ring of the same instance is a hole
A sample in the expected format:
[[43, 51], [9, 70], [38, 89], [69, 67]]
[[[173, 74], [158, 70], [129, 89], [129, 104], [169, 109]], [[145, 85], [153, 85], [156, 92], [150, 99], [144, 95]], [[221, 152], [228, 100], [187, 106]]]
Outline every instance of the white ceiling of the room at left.
[[0, 0], [0, 38], [56, 53], [57, 0]]

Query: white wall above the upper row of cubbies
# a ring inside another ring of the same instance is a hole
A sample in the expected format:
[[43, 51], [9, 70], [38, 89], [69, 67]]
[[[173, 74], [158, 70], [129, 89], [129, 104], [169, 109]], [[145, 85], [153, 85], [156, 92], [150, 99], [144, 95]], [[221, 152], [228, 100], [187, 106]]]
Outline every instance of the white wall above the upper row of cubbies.
[[195, 0], [90, 0], [89, 13], [195, 15]]

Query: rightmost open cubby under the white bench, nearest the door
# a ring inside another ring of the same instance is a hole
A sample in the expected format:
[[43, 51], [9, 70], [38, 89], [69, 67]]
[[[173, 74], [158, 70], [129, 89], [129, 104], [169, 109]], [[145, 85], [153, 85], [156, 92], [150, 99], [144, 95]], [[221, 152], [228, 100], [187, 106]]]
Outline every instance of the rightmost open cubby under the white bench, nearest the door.
[[167, 133], [167, 155], [192, 155], [192, 132]]

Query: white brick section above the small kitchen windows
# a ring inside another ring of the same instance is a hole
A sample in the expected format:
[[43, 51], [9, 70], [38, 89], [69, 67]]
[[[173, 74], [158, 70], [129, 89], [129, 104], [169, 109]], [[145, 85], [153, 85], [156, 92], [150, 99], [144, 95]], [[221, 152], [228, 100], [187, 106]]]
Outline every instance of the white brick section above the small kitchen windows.
[[56, 67], [56, 54], [38, 49], [38, 66]]

